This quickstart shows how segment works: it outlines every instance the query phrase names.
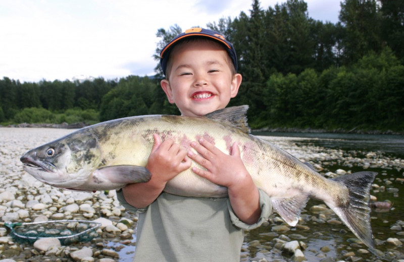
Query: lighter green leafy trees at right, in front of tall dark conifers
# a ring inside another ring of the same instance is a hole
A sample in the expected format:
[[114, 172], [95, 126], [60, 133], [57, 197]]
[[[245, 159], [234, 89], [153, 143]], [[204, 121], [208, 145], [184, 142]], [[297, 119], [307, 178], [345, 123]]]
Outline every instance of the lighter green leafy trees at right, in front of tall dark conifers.
[[320, 76], [312, 69], [298, 76], [273, 74], [264, 89], [269, 110], [261, 114], [260, 125], [402, 132], [403, 73], [404, 66], [386, 49]]

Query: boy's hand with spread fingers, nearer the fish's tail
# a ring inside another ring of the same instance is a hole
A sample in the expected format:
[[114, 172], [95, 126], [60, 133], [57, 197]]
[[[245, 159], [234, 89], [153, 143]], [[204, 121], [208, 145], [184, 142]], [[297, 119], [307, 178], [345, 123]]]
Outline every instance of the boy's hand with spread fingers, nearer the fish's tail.
[[193, 167], [192, 171], [197, 175], [228, 188], [234, 185], [240, 186], [244, 179], [250, 177], [236, 143], [232, 145], [230, 155], [223, 153], [204, 139], [200, 139], [199, 143], [192, 142], [191, 146], [200, 155], [188, 151], [188, 157], [207, 169]]

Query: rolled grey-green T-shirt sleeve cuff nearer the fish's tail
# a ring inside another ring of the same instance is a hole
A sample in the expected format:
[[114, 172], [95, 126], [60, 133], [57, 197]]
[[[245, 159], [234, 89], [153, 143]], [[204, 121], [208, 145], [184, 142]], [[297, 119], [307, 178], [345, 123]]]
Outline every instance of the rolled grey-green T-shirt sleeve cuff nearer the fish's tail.
[[267, 221], [268, 217], [272, 213], [271, 199], [269, 198], [269, 195], [266, 192], [264, 192], [263, 190], [258, 189], [258, 192], [260, 194], [261, 216], [256, 223], [251, 224], [251, 225], [246, 224], [246, 223], [240, 221], [240, 219], [238, 219], [238, 217], [236, 216], [236, 214], [234, 214], [234, 211], [230, 205], [230, 200], [227, 200], [227, 206], [228, 206], [229, 212], [230, 212], [230, 219], [231, 219], [231, 222], [233, 223], [233, 225], [235, 225], [238, 228], [251, 230], [251, 229], [255, 229], [255, 228], [261, 226], [262, 223]]

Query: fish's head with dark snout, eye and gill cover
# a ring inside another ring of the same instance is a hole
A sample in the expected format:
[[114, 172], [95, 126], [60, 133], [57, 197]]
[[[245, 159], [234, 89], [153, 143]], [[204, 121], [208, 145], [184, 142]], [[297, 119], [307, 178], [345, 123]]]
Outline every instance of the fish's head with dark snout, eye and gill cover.
[[39, 181], [68, 188], [85, 182], [99, 165], [100, 150], [91, 133], [72, 133], [28, 151], [20, 161]]

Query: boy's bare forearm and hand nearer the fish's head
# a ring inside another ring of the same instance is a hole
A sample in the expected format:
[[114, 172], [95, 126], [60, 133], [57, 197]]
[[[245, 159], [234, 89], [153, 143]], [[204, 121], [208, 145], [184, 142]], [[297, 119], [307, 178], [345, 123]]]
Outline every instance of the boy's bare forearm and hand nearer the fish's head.
[[180, 172], [191, 166], [186, 151], [168, 139], [161, 142], [154, 135], [154, 144], [147, 160], [146, 168], [151, 179], [145, 183], [128, 184], [122, 188], [126, 202], [135, 208], [145, 208], [153, 203], [163, 191], [166, 183]]

